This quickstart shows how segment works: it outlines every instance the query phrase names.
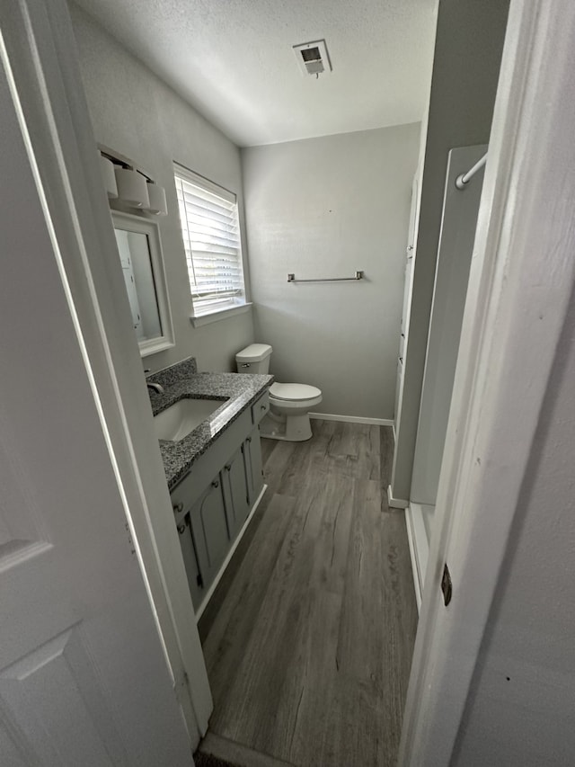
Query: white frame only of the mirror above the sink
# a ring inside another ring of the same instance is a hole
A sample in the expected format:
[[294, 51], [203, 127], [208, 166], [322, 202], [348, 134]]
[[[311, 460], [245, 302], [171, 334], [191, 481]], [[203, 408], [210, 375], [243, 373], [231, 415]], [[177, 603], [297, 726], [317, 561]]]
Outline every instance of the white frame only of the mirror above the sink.
[[150, 264], [155, 283], [155, 298], [163, 334], [157, 338], [138, 341], [137, 345], [139, 346], [140, 356], [147, 357], [156, 352], [163, 352], [164, 349], [171, 349], [175, 346], [175, 342], [173, 340], [172, 311], [170, 309], [170, 299], [165, 279], [160, 227], [156, 221], [134, 216], [131, 213], [125, 213], [123, 210], [111, 210], [110, 212], [114, 229], [146, 235], [149, 245]]

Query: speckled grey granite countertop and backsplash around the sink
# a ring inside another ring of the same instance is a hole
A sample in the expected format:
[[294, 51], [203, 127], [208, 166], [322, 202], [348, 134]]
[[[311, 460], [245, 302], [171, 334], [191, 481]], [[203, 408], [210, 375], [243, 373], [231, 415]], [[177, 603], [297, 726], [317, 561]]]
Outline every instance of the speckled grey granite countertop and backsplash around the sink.
[[226, 431], [229, 424], [232, 424], [243, 410], [252, 406], [273, 383], [273, 376], [197, 373], [195, 370], [195, 360], [190, 358], [173, 365], [172, 368], [148, 376], [148, 380], [162, 384], [165, 389], [164, 394], [156, 394], [150, 390], [154, 415], [184, 397], [222, 400], [222, 406], [187, 437], [177, 442], [160, 440], [165, 477], [170, 490], [186, 476], [194, 461]]

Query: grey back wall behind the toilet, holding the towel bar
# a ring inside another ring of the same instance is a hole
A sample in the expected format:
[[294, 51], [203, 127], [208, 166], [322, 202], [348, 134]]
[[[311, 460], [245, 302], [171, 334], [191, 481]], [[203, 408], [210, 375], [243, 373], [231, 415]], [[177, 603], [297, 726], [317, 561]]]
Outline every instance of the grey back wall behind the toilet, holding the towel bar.
[[394, 416], [419, 138], [411, 123], [243, 150], [256, 340], [280, 381], [322, 389], [323, 413]]

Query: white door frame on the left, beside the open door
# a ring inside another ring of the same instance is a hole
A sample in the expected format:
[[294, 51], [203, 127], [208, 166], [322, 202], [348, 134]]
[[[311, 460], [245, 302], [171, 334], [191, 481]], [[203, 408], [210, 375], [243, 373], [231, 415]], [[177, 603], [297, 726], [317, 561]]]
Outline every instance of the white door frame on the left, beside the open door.
[[0, 58], [193, 750], [213, 702], [66, 1], [1, 6]]

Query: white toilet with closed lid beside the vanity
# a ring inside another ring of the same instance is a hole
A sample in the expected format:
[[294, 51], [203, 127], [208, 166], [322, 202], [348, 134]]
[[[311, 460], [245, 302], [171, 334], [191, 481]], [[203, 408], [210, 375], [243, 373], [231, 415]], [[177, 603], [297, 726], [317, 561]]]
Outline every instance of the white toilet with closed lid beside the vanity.
[[[271, 346], [268, 343], [246, 346], [235, 355], [238, 373], [268, 373], [270, 354]], [[322, 390], [314, 386], [271, 384], [270, 413], [261, 421], [261, 436], [289, 442], [309, 440], [312, 436], [309, 411], [321, 401]]]

